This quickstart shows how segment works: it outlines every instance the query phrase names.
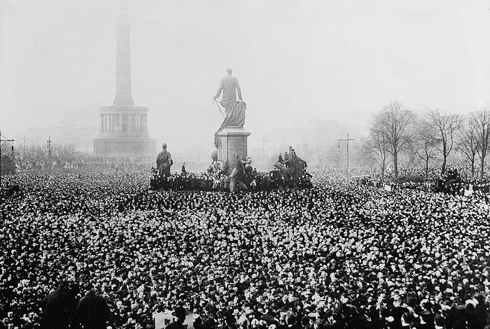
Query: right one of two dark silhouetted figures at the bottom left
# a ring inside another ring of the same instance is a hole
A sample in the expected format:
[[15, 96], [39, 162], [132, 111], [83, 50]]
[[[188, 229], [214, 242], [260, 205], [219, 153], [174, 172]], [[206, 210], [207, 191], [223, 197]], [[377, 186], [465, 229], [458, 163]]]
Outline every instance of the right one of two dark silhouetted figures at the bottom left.
[[95, 293], [92, 285], [87, 287], [87, 294], [78, 303], [76, 314], [83, 329], [105, 329], [109, 320], [109, 305], [101, 295]]

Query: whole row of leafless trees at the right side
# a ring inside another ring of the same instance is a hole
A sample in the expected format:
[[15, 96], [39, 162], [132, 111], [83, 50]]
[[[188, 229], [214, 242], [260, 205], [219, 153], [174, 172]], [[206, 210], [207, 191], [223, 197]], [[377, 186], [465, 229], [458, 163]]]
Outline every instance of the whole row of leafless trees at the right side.
[[416, 113], [400, 102], [390, 102], [377, 113], [363, 142], [364, 152], [377, 163], [384, 176], [388, 161], [393, 162], [394, 176], [403, 154], [416, 156], [425, 165], [428, 175], [430, 162], [441, 161], [441, 174], [447, 160], [456, 151], [464, 155], [475, 176], [484, 177], [485, 160], [490, 144], [490, 111], [481, 109], [463, 116], [440, 109]]

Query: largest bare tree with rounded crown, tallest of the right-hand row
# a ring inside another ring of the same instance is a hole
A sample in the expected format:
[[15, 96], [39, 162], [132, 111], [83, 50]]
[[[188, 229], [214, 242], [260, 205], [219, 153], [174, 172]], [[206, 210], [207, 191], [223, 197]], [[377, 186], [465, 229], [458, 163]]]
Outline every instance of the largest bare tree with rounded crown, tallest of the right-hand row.
[[395, 177], [398, 177], [398, 156], [409, 148], [414, 134], [415, 114], [399, 102], [390, 102], [374, 118], [372, 128], [375, 134], [382, 134], [388, 145], [387, 151], [393, 157]]

